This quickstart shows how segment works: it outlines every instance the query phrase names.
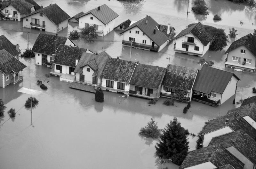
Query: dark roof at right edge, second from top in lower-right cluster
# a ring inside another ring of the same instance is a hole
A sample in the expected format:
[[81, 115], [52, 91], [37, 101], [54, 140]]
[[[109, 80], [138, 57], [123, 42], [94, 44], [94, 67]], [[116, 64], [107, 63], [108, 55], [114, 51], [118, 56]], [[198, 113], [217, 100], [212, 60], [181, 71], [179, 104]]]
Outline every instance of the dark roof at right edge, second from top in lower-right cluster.
[[236, 109], [229, 110], [227, 114], [232, 112], [237, 112], [242, 117], [249, 116], [256, 122], [256, 102], [252, 102]]

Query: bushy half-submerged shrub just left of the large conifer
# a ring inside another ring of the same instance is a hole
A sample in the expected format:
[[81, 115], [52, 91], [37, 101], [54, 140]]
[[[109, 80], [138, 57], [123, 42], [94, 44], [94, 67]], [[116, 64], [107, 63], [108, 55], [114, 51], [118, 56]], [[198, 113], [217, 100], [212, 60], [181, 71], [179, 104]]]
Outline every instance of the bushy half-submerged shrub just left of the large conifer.
[[156, 139], [161, 135], [161, 129], [158, 129], [157, 123], [153, 120], [153, 118], [150, 120], [151, 121], [148, 122], [147, 126], [140, 129], [139, 134], [143, 137], [151, 137]]

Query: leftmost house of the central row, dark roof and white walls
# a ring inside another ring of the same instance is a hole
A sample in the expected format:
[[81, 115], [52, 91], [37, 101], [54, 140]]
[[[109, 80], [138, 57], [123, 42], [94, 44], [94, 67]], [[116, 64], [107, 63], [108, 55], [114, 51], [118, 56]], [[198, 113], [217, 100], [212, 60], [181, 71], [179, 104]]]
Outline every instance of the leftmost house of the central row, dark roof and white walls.
[[55, 53], [60, 45], [75, 46], [67, 37], [40, 32], [32, 47], [32, 52], [36, 54], [36, 65], [47, 65], [47, 67], [51, 67], [52, 54]]

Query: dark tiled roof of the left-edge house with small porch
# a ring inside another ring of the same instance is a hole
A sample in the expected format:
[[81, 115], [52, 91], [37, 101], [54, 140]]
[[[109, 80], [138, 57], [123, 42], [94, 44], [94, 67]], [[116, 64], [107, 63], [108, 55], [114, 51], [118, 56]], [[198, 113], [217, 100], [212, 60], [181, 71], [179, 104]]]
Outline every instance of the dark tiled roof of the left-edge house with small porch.
[[0, 50], [0, 71], [4, 74], [8, 74], [10, 72], [18, 73], [22, 69], [27, 67], [23, 63], [21, 63], [18, 59], [8, 53], [6, 50]]

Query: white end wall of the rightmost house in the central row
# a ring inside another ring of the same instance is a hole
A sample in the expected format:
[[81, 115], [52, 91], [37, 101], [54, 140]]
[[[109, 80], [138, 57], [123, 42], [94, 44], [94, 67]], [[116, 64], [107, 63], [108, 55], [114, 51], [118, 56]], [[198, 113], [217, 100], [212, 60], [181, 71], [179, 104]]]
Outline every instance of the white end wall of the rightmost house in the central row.
[[236, 79], [235, 76], [231, 77], [231, 82], [228, 83], [227, 87], [225, 88], [222, 98], [220, 101], [220, 104], [223, 104], [225, 101], [227, 101], [230, 97], [236, 94], [236, 83], [238, 79]]

